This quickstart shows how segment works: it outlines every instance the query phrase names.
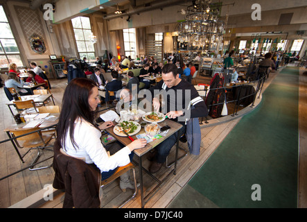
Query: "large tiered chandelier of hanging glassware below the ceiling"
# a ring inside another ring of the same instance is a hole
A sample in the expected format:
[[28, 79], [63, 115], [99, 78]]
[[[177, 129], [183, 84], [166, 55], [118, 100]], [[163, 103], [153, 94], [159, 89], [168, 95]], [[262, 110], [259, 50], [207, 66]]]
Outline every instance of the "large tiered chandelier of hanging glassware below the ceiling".
[[185, 21], [179, 23], [179, 47], [187, 46], [189, 50], [208, 50], [216, 48], [223, 40], [225, 24], [218, 20], [218, 6], [210, 5], [210, 0], [192, 1], [186, 10], [182, 9]]

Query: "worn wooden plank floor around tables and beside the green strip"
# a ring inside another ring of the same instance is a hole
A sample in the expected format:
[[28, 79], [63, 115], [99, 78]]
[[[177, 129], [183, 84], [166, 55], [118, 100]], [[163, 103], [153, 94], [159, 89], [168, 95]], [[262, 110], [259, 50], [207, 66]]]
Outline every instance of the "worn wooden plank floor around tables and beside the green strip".
[[[304, 71], [304, 69], [301, 69], [301, 72]], [[276, 74], [270, 75], [270, 79], [265, 83], [265, 87], [270, 83], [270, 81], [276, 76]], [[198, 77], [198, 83], [209, 83], [211, 80], [210, 77]], [[56, 105], [60, 105], [62, 101], [62, 94], [64, 92], [64, 88], [66, 87], [67, 80], [51, 80], [52, 89], [55, 96], [55, 103]], [[307, 91], [306, 91], [306, 77], [304, 77], [304, 82], [300, 81], [303, 89], [300, 88], [300, 99], [301, 96], [304, 98], [304, 104], [301, 105], [300, 103], [300, 115], [301, 113], [304, 114], [304, 123], [300, 122], [300, 126], [305, 128], [304, 135], [300, 136], [301, 141], [304, 143], [301, 144], [301, 154], [303, 155], [300, 158], [301, 168], [304, 169], [303, 172], [306, 172], [306, 166], [307, 161], [305, 160], [306, 157], [306, 151], [304, 153], [304, 145], [306, 146], [306, 97], [307, 97]], [[8, 111], [7, 106], [5, 105], [7, 98], [5, 94], [3, 93], [3, 90], [1, 90], [0, 93], [0, 117], [2, 117], [3, 120], [0, 124], [0, 140], [6, 139], [7, 135], [3, 133], [3, 129], [7, 126], [10, 126], [10, 124], [14, 123], [10, 112]], [[301, 102], [301, 101], [300, 101]], [[188, 180], [190, 180], [193, 175], [202, 167], [202, 164], [207, 160], [207, 158], [215, 151], [215, 149], [218, 147], [220, 142], [227, 136], [227, 134], [236, 126], [236, 123], [240, 121], [240, 118], [236, 118], [234, 120], [228, 121], [227, 123], [222, 123], [218, 126], [211, 126], [202, 128], [202, 144], [200, 149], [200, 155], [186, 155], [182, 160], [179, 160], [177, 165], [177, 174], [171, 175], [168, 180], [164, 183], [164, 185], [161, 186], [160, 189], [158, 189], [155, 192], [155, 195], [150, 198], [148, 203], [145, 207], [167, 207], [173, 198], [177, 194], [179, 194], [179, 191], [186, 185]], [[300, 133], [303, 133], [300, 130]], [[182, 148], [186, 148], [187, 150], [187, 144], [180, 143], [180, 146]], [[173, 148], [174, 150], [174, 148]], [[51, 151], [45, 151], [44, 154], [46, 156], [53, 155]], [[179, 155], [182, 153], [179, 153]], [[170, 154], [170, 160], [172, 159], [174, 155], [174, 152]], [[43, 158], [43, 157], [41, 157]], [[12, 145], [10, 142], [7, 142], [5, 144], [0, 144], [0, 161], [1, 161], [1, 168], [0, 168], [0, 178], [8, 175], [9, 173], [15, 172], [21, 167], [25, 167], [27, 163], [30, 162], [30, 158], [26, 160], [25, 164], [21, 164], [19, 161], [19, 158], [17, 156], [17, 153], [12, 148]], [[150, 162], [146, 159], [146, 157], [143, 157], [143, 167], [148, 167]], [[137, 169], [137, 179], [139, 178], [139, 171]], [[158, 173], [156, 173], [155, 176], [158, 178], [164, 178], [166, 174], [170, 171], [170, 169], [163, 167]], [[300, 198], [300, 204], [299, 207], [307, 207], [306, 205], [306, 197], [307, 197], [307, 191], [306, 189], [306, 173], [300, 173], [300, 187], [303, 186], [304, 189], [300, 189], [299, 191], [299, 198]], [[10, 207], [11, 205], [14, 205], [15, 203], [19, 202], [20, 200], [23, 200], [24, 198], [31, 196], [32, 194], [37, 194], [37, 191], [40, 191], [44, 188], [45, 185], [50, 185], [53, 182], [53, 169], [43, 169], [40, 171], [22, 171], [21, 173], [17, 173], [15, 176], [10, 176], [9, 178], [6, 178], [4, 180], [0, 181], [0, 207]], [[144, 181], [144, 189], [146, 190], [146, 194], [150, 192], [157, 183], [155, 180], [150, 178], [146, 173], [143, 174], [143, 181]], [[107, 185], [103, 188], [103, 191], [100, 192], [102, 195], [101, 199], [101, 206], [102, 207], [119, 207], [121, 205], [122, 201], [128, 198], [132, 194], [132, 191], [128, 189], [126, 193], [123, 193], [121, 189], [119, 189], [119, 181], [114, 181], [111, 184]], [[42, 205], [41, 207], [62, 207], [62, 201], [64, 200], [64, 195], [60, 193], [58, 196], [53, 197], [53, 201], [49, 201]], [[134, 200], [131, 200], [128, 204], [126, 204], [124, 207], [141, 207], [141, 200], [140, 200], [140, 192], [138, 192], [137, 197], [134, 198]]]

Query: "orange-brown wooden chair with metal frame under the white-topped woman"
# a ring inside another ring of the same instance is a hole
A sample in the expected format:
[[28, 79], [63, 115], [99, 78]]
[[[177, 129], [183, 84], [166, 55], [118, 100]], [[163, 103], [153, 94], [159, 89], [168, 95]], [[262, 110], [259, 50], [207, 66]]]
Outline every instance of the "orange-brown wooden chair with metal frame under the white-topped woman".
[[[128, 203], [130, 200], [132, 200], [132, 198], [134, 198], [134, 196], [137, 195], [137, 178], [135, 176], [134, 165], [130, 162], [129, 164], [127, 164], [123, 167], [119, 167], [112, 176], [107, 178], [107, 180], [102, 180], [100, 182], [100, 187], [103, 188], [105, 185], [108, 185], [110, 182], [113, 182], [114, 180], [116, 180], [116, 178], [119, 178], [124, 173], [130, 171], [130, 169], [132, 169], [133, 178], [134, 178], [134, 194], [132, 194], [132, 196], [130, 196], [130, 198], [128, 200], [125, 200], [125, 202], [123, 204], [121, 204], [121, 206], [119, 206], [119, 208], [123, 207], [123, 205]], [[123, 192], [125, 192], [125, 190], [123, 190]]]

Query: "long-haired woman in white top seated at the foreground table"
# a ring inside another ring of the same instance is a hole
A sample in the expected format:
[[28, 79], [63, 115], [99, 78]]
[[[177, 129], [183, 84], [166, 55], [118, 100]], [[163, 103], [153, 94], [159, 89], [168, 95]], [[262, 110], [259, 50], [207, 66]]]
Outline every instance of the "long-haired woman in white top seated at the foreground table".
[[[132, 158], [132, 151], [146, 146], [146, 139], [136, 139], [125, 147], [118, 143], [103, 146], [100, 141], [101, 130], [113, 126], [113, 123], [107, 121], [100, 126], [96, 125], [94, 111], [98, 103], [100, 103], [98, 87], [93, 80], [89, 78], [71, 80], [62, 100], [57, 142], [62, 144], [67, 155], [82, 158], [87, 164], [96, 164], [100, 169], [102, 180], [105, 180], [112, 176], [117, 167], [128, 164]], [[129, 173], [123, 174], [120, 178], [121, 189], [134, 189]]]

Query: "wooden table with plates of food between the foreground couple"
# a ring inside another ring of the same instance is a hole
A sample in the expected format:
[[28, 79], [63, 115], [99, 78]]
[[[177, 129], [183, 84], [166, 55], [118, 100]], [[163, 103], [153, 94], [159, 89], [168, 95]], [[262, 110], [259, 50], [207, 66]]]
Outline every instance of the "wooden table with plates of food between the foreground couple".
[[[148, 200], [149, 198], [151, 198], [152, 194], [159, 189], [159, 187], [163, 184], [163, 182], [168, 178], [168, 176], [170, 176], [171, 173], [174, 173], [174, 175], [176, 174], [176, 168], [177, 168], [177, 157], [178, 157], [178, 148], [179, 148], [179, 130], [182, 128], [182, 124], [177, 123], [175, 121], [172, 121], [170, 119], [166, 119], [164, 121], [162, 121], [161, 123], [158, 123], [159, 126], [163, 127], [163, 126], [170, 126], [170, 130], [168, 131], [167, 135], [161, 139], [156, 139], [150, 143], [148, 143], [144, 148], [140, 148], [137, 150], [134, 150], [135, 155], [137, 155], [139, 157], [139, 178], [140, 178], [140, 186], [141, 186], [141, 207], [143, 208], [144, 205], [146, 204], [146, 200]], [[115, 123], [116, 125], [116, 123]], [[122, 144], [124, 144], [125, 146], [127, 146], [128, 144], [131, 143], [131, 140], [128, 137], [120, 137], [118, 135], [116, 135], [113, 131], [114, 127], [111, 128], [107, 128], [107, 133], [109, 133], [110, 135], [112, 135], [115, 139], [117, 139], [119, 142], [121, 142]], [[140, 135], [142, 133], [145, 133], [144, 128], [141, 128], [140, 132], [137, 133], [136, 135]], [[166, 176], [166, 178], [164, 178], [163, 180], [159, 180], [158, 178], [156, 178], [155, 176], [152, 175], [152, 173], [150, 173], [147, 169], [142, 167], [142, 157], [143, 155], [146, 155], [146, 153], [148, 153], [149, 151], [151, 151], [153, 148], [155, 148], [158, 144], [160, 144], [161, 142], [163, 142], [165, 139], [167, 139], [168, 137], [170, 137], [171, 135], [173, 135], [174, 133], [177, 133], [177, 144], [176, 144], [176, 155], [175, 155], [175, 167], [172, 171], [170, 171], [170, 173], [168, 173], [168, 175]], [[133, 135], [132, 139], [137, 139], [137, 136]], [[145, 171], [146, 173], [148, 173], [152, 178], [154, 178], [157, 182], [158, 185], [155, 187], [155, 189], [153, 189], [146, 197], [144, 197], [143, 194], [143, 171]]]

